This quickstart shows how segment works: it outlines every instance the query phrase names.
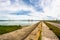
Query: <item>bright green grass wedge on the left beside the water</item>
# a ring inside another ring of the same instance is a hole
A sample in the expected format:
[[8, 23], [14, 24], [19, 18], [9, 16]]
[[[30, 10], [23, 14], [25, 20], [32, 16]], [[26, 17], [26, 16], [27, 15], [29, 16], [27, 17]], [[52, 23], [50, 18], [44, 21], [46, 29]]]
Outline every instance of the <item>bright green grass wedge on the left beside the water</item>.
[[0, 35], [22, 28], [20, 25], [0, 25]]

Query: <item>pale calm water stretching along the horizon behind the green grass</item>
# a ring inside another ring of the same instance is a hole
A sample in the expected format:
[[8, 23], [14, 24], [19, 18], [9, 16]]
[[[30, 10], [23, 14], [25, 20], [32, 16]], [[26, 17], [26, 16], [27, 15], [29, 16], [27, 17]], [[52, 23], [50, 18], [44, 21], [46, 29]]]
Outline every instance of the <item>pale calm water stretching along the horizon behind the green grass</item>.
[[0, 21], [0, 25], [31, 25], [39, 21]]

